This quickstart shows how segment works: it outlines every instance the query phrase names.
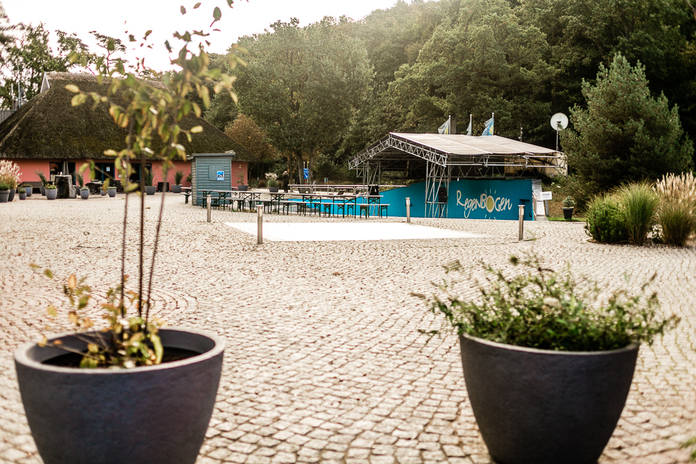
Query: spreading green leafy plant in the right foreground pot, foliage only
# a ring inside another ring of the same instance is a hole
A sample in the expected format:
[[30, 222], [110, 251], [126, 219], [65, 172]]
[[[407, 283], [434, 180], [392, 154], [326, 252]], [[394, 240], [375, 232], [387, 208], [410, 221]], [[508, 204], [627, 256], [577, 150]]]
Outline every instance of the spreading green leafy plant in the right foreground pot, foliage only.
[[[649, 284], [636, 294], [619, 289], [601, 298], [596, 285], [580, 290], [569, 266], [554, 272], [541, 266], [535, 256], [511, 257], [525, 272], [510, 277], [482, 263], [485, 285], [478, 283], [477, 300], [454, 294], [456, 282], [438, 285], [441, 294], [424, 299], [434, 314], [459, 335], [492, 342], [555, 351], [606, 351], [631, 343], [652, 344], [657, 335], [674, 328], [679, 318], [658, 315], [657, 295]], [[445, 266], [448, 273], [463, 271], [459, 262]], [[444, 296], [441, 296], [444, 294]], [[603, 301], [604, 300], [604, 301]]]

